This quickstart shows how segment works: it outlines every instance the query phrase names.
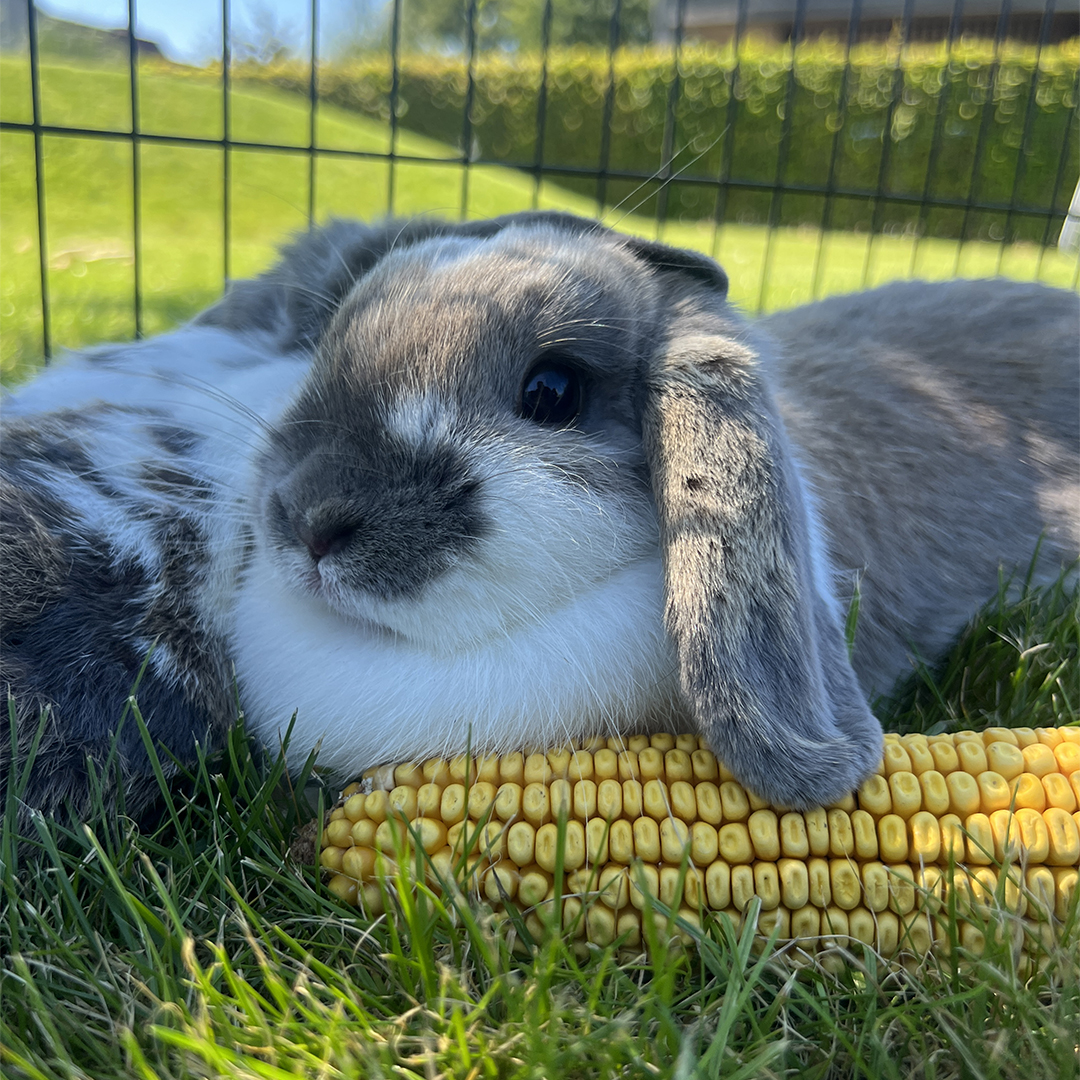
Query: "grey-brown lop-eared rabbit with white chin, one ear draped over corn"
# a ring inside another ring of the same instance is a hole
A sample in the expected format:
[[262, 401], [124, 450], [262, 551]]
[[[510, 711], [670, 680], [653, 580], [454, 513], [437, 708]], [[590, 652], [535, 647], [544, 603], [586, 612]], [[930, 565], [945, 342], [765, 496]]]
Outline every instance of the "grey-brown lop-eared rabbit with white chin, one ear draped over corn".
[[691, 726], [774, 804], [828, 802], [913, 649], [1040, 536], [1048, 572], [1077, 556], [1076, 296], [906, 284], [755, 325], [711, 259], [565, 215], [375, 259], [353, 229], [206, 316], [299, 305], [282, 347], [314, 346], [254, 462], [232, 638], [297, 761]]

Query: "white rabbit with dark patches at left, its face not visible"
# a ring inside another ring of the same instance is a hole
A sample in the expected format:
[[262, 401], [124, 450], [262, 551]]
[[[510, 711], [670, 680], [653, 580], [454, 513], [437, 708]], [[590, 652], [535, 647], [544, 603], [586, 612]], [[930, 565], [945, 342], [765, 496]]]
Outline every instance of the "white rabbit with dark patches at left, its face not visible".
[[14, 774], [24, 824], [31, 808], [85, 820], [95, 786], [133, 816], [160, 797], [133, 691], [166, 778], [222, 744], [249, 531], [233, 461], [308, 366], [186, 327], [66, 357], [4, 397], [0, 675], [17, 748], [0, 739], [0, 804]]

